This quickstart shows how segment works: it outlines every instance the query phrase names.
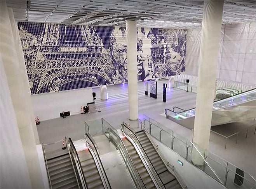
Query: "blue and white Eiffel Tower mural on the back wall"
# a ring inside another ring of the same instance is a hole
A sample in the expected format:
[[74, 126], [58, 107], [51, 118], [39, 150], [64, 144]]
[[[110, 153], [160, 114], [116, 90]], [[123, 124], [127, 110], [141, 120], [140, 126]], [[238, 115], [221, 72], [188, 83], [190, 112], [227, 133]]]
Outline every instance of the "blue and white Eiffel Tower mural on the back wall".
[[[31, 94], [127, 82], [125, 27], [18, 22]], [[186, 30], [137, 29], [138, 80], [185, 71]]]

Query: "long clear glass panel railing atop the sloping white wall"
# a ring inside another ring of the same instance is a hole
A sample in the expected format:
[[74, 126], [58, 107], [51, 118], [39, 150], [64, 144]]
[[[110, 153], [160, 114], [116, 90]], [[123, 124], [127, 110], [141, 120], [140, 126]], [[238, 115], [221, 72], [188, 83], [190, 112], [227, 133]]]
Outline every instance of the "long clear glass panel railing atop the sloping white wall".
[[[156, 121], [152, 121], [152, 118], [148, 116], [143, 115], [142, 123], [145, 123], [146, 129], [150, 124], [151, 127], [153, 125], [155, 127], [159, 125], [160, 129], [155, 129], [154, 133], [148, 133], [225, 187], [242, 189], [255, 188], [256, 180], [250, 174], [239, 169], [232, 163], [227, 162], [208, 150], [200, 148], [196, 143], [174, 133], [171, 129], [168, 129], [162, 124], [156, 124]], [[159, 136], [156, 131], [159, 132], [160, 137], [155, 137]]]

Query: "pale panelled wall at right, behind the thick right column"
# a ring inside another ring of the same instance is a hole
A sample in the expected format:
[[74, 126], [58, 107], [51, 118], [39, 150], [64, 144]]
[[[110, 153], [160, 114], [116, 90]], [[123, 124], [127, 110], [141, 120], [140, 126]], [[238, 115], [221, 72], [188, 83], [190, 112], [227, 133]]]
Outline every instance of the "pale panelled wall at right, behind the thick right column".
[[[188, 75], [198, 75], [200, 39], [201, 28], [188, 29]], [[219, 44], [216, 78], [256, 85], [256, 22], [223, 25]]]

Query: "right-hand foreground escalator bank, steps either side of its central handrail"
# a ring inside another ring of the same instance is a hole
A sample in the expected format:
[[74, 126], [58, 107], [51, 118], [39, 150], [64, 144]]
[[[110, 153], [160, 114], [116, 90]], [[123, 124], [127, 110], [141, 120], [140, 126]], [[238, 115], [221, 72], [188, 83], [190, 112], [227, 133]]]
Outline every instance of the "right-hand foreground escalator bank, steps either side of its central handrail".
[[121, 130], [125, 136], [124, 144], [146, 188], [182, 188], [174, 174], [169, 171], [163, 162], [144, 130], [135, 133], [125, 124], [121, 125]]

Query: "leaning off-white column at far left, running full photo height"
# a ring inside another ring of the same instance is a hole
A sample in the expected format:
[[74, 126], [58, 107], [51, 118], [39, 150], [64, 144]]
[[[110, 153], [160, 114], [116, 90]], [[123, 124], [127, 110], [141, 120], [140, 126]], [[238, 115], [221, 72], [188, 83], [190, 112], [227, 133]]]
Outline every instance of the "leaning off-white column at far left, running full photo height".
[[[21, 72], [22, 68], [19, 65], [19, 56], [15, 48], [12, 27], [5, 1], [0, 1], [0, 9], [0, 53], [19, 128], [19, 135], [21, 137], [24, 155], [28, 165], [31, 186], [33, 188], [43, 188], [43, 177], [39, 165], [33, 131], [34, 124], [31, 123], [31, 112], [28, 107], [31, 99], [30, 95], [26, 92], [26, 89], [24, 89], [23, 72]], [[8, 125], [4, 126], [8, 127]]]

